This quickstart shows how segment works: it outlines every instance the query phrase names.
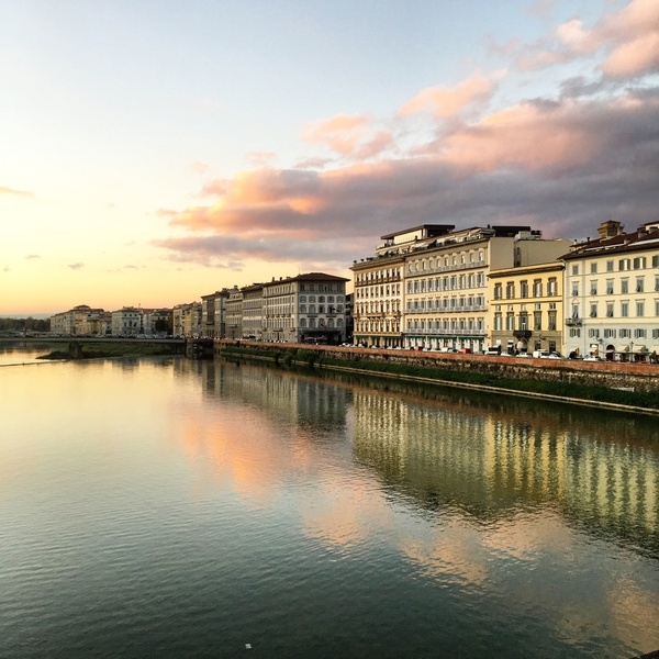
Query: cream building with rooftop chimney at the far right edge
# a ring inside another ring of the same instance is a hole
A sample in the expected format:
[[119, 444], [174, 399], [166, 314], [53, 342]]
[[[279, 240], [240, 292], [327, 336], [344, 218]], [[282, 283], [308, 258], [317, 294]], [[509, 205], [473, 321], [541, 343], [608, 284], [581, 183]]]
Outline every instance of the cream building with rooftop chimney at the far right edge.
[[597, 232], [563, 256], [567, 349], [645, 361], [659, 354], [659, 222]]

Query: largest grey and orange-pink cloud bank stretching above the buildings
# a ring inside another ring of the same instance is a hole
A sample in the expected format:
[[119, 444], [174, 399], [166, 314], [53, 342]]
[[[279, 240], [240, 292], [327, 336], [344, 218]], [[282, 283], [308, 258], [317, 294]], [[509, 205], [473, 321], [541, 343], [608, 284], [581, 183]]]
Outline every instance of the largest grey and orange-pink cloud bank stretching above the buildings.
[[404, 158], [244, 171], [222, 181], [215, 203], [168, 212], [197, 236], [155, 244], [206, 264], [349, 264], [378, 236], [424, 222], [523, 222], [563, 237], [602, 217], [639, 224], [656, 219], [657, 115], [659, 93], [535, 99], [457, 124]]

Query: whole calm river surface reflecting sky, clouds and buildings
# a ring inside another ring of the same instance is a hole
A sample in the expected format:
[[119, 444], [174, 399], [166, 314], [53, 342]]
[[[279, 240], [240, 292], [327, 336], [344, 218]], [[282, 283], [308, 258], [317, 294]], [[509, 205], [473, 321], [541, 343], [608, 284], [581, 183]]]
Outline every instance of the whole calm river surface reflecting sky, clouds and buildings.
[[181, 358], [0, 368], [0, 657], [659, 649], [659, 423]]

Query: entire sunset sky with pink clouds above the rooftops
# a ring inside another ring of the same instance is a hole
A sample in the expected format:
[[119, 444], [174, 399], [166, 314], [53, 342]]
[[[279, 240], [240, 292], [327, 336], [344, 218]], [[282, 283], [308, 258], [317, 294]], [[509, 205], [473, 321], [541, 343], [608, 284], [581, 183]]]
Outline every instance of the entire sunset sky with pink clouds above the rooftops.
[[0, 315], [659, 220], [658, 0], [0, 0]]

